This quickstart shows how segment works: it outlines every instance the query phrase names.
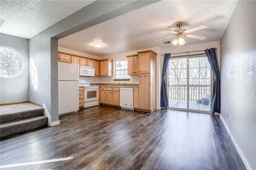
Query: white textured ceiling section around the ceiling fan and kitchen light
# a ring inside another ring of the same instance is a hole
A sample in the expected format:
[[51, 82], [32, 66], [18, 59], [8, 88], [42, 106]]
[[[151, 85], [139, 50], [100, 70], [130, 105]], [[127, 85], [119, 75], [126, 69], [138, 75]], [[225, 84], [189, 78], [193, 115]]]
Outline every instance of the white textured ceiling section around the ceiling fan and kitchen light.
[[[228, 24], [237, 1], [160, 1], [108, 20], [59, 40], [59, 46], [97, 56], [123, 53], [152, 47], [171, 47], [175, 37], [163, 28], [176, 30], [182, 22], [186, 30], [201, 24], [208, 28], [192, 32], [205, 40], [184, 38], [185, 45], [218, 41]], [[227, 8], [228, 7], [228, 8]], [[102, 48], [92, 47], [95, 42]]]

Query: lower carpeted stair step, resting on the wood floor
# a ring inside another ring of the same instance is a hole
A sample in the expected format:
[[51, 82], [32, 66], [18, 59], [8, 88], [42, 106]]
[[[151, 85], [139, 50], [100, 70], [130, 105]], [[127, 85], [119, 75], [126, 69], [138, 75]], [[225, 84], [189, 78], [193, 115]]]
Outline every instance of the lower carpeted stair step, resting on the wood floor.
[[1, 124], [0, 137], [9, 136], [20, 132], [25, 132], [39, 127], [46, 127], [48, 123], [48, 117], [38, 116], [29, 119], [23, 119], [19, 121], [9, 122]]

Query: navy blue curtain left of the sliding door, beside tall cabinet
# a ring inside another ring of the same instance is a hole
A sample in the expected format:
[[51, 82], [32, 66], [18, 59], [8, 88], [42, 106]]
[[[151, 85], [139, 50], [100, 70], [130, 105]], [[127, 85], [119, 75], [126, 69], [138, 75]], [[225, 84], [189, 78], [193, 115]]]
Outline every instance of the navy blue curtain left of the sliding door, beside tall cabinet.
[[171, 53], [164, 54], [164, 64], [163, 64], [162, 83], [161, 83], [161, 105], [160, 105], [161, 107], [168, 107], [169, 106], [164, 76], [166, 75], [166, 71], [167, 71], [167, 67], [168, 67], [168, 64], [169, 64], [170, 56], [171, 56]]

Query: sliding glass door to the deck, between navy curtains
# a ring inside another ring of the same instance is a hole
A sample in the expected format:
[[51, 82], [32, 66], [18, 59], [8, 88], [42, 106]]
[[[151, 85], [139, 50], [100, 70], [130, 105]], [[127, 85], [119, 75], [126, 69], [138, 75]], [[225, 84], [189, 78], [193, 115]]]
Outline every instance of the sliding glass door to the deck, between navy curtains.
[[168, 71], [169, 107], [210, 112], [211, 75], [206, 56], [171, 58]]

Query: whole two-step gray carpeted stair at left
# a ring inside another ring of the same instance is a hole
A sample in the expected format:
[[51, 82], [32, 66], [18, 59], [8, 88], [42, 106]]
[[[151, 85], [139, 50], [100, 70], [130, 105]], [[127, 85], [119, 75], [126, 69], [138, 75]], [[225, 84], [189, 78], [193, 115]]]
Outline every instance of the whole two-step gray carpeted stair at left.
[[0, 106], [0, 137], [46, 127], [44, 108], [31, 103]]

